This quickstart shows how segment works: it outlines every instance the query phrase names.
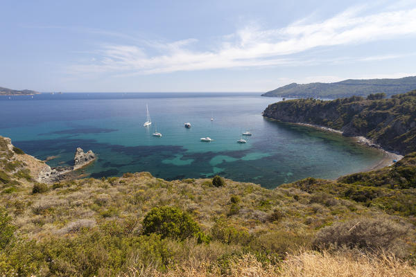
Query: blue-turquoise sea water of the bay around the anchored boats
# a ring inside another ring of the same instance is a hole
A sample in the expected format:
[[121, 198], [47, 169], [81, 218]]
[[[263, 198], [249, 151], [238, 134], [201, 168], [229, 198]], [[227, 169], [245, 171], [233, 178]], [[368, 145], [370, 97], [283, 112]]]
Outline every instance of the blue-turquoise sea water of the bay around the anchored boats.
[[[164, 179], [221, 175], [267, 188], [334, 179], [377, 163], [379, 151], [338, 134], [261, 116], [279, 98], [259, 93], [64, 93], [0, 96], [0, 135], [49, 165], [71, 165], [77, 147], [98, 161], [92, 177], [148, 171]], [[153, 125], [143, 127], [148, 104]], [[214, 121], [211, 121], [211, 116]], [[190, 122], [191, 129], [184, 128]], [[152, 136], [157, 131], [162, 138]], [[246, 144], [241, 133], [252, 132]], [[214, 141], [203, 143], [210, 136]]]

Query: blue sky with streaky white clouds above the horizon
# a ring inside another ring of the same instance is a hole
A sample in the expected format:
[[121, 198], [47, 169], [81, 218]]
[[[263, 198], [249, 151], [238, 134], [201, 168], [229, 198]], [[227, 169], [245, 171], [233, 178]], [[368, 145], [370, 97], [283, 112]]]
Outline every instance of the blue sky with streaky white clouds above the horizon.
[[0, 0], [0, 87], [270, 91], [416, 75], [416, 0]]

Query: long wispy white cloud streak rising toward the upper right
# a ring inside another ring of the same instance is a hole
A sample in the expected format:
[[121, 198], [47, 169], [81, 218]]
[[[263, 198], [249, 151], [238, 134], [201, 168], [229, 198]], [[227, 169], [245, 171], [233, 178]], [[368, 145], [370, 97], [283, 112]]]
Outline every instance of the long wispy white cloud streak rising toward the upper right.
[[[96, 51], [95, 60], [73, 65], [70, 71], [135, 75], [303, 64], [307, 61], [296, 55], [311, 49], [416, 35], [416, 8], [370, 15], [363, 12], [368, 13], [366, 7], [358, 6], [320, 22], [300, 20], [278, 29], [247, 26], [223, 36], [207, 51], [196, 51], [199, 41], [194, 38], [170, 43], [141, 40], [135, 45], [106, 44]], [[398, 55], [368, 57], [367, 61], [395, 57]]]

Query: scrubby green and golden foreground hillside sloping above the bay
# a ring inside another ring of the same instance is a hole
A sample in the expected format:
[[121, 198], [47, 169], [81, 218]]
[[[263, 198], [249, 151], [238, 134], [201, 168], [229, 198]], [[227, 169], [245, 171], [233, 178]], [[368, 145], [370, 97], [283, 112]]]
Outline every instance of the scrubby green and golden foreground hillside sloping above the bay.
[[416, 153], [380, 174], [275, 190], [148, 172], [40, 184], [29, 159], [10, 169], [25, 154], [2, 137], [0, 153], [0, 276], [416, 274]]

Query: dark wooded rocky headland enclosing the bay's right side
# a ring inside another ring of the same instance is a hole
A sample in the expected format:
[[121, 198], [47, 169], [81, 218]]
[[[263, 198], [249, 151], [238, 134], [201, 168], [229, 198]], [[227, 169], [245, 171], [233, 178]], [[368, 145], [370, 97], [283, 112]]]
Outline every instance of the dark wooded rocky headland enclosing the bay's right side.
[[400, 154], [416, 151], [416, 90], [378, 98], [381, 95], [284, 100], [269, 105], [263, 116], [328, 127], [340, 130], [344, 136], [365, 136], [383, 149]]

